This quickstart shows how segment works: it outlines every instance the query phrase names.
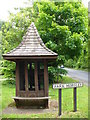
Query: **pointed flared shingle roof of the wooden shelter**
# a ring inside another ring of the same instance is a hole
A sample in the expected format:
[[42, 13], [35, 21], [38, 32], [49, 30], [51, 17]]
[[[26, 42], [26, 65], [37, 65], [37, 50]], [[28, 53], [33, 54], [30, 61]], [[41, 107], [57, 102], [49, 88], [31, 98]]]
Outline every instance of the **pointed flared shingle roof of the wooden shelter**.
[[38, 31], [32, 22], [28, 28], [26, 35], [23, 37], [23, 41], [18, 47], [12, 51], [4, 54], [3, 57], [33, 57], [33, 56], [57, 56], [57, 53], [48, 49], [42, 39], [40, 38]]

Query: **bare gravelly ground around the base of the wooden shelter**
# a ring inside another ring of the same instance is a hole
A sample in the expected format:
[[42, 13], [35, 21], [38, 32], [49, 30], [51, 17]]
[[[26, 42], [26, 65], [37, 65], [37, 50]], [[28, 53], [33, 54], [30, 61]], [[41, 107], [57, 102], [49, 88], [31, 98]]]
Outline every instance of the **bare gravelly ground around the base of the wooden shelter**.
[[49, 109], [17, 109], [15, 106], [7, 107], [2, 111], [2, 114], [41, 114], [53, 113], [58, 111], [58, 102], [50, 100]]

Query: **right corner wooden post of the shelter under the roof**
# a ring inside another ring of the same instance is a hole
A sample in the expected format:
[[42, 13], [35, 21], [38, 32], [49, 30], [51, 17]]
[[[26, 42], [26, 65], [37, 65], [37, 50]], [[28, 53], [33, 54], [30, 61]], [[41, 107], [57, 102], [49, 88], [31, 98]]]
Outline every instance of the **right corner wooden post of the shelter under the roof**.
[[45, 96], [48, 97], [48, 65], [46, 60], [44, 60], [44, 91]]

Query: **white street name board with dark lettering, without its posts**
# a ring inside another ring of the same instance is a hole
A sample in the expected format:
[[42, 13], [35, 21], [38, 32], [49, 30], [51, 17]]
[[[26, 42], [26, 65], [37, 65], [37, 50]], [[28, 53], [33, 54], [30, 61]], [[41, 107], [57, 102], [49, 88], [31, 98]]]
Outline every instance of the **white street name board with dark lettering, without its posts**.
[[83, 83], [53, 84], [53, 89], [82, 87]]

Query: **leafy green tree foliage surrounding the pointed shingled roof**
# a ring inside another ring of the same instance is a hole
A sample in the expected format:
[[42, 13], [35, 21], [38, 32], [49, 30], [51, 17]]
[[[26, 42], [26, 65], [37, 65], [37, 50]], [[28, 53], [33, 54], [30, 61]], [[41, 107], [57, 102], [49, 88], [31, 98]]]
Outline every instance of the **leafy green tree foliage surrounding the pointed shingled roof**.
[[[87, 9], [80, 2], [34, 2], [33, 7], [20, 9], [16, 15], [11, 13], [9, 21], [2, 26], [2, 53], [18, 46], [34, 21], [45, 45], [58, 53], [56, 62], [51, 63], [58, 68], [66, 60], [81, 55], [87, 42], [87, 20]], [[12, 77], [15, 65], [8, 64], [12, 65], [7, 65], [4, 73]]]

